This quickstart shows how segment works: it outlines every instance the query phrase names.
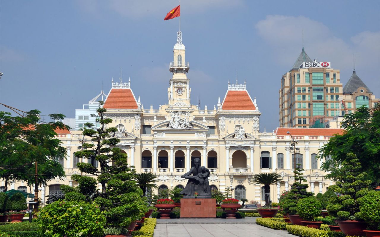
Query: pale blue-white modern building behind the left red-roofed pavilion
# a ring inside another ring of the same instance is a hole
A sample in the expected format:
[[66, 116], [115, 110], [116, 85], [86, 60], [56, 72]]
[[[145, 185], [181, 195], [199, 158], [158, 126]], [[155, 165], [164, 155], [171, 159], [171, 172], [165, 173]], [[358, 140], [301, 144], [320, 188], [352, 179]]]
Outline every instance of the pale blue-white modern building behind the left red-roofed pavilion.
[[100, 94], [95, 96], [92, 100], [89, 101], [88, 104], [83, 105], [82, 109], [75, 110], [75, 130], [80, 130], [86, 127], [84, 124], [86, 122], [92, 122], [96, 127], [100, 127], [100, 124], [95, 122], [97, 117], [91, 117], [92, 114], [97, 115], [96, 111], [99, 108], [99, 100], [104, 101], [107, 95], [104, 91], [100, 91]]

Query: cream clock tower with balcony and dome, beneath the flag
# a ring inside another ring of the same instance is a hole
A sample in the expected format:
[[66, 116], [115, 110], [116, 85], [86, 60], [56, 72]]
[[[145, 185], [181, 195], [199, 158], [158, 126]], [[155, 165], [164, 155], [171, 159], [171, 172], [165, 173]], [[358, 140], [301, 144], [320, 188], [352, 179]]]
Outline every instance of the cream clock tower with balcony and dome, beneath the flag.
[[173, 49], [173, 61], [169, 71], [173, 77], [169, 80], [168, 99], [169, 107], [190, 108], [189, 79], [186, 73], [189, 71], [189, 63], [185, 61], [185, 46], [182, 44], [182, 32], [177, 32], [177, 43]]

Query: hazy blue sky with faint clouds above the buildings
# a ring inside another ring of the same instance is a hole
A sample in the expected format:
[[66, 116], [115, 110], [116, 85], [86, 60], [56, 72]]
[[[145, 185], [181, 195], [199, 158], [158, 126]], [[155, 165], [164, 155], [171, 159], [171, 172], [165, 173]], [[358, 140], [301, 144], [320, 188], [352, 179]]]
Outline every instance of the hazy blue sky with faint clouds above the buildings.
[[[168, 103], [179, 17], [175, 0], [0, 2], [0, 101], [74, 118], [111, 79], [130, 77], [144, 108]], [[213, 108], [231, 82], [256, 97], [260, 131], [279, 126], [280, 80], [304, 47], [330, 61], [345, 83], [353, 71], [380, 96], [380, 1], [182, 0], [182, 43], [192, 104]], [[6, 110], [5, 107], [0, 107]], [[48, 119], [48, 116], [42, 116]]]

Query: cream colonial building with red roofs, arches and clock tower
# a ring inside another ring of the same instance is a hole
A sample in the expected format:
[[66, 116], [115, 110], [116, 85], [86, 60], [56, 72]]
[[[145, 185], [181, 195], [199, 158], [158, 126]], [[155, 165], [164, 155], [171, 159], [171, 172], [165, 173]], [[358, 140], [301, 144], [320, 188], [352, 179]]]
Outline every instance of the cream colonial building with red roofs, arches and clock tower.
[[[112, 136], [120, 138], [118, 147], [128, 155], [128, 164], [138, 173], [155, 173], [160, 188], [184, 187], [187, 179], [181, 178], [182, 174], [199, 158], [201, 165], [211, 172], [212, 188], [225, 192], [230, 187], [234, 198], [258, 202], [264, 201], [264, 191], [261, 185], [252, 182], [253, 175], [281, 174], [283, 181], [272, 185], [270, 194], [272, 201], [278, 201], [280, 194], [294, 182], [294, 162], [305, 169], [310, 191], [323, 193], [332, 184], [320, 171], [321, 161], [316, 157], [318, 149], [334, 134], [341, 133], [341, 129], [277, 128], [260, 133], [259, 106], [245, 82], [226, 83], [226, 91], [220, 91], [225, 95], [218, 98], [217, 106], [201, 109], [190, 103], [189, 69], [178, 32], [173, 61], [169, 64], [173, 77], [168, 83], [168, 104], [144, 108], [133, 93], [131, 81], [112, 81], [103, 106], [107, 109], [105, 116], [112, 119], [109, 126], [117, 127]], [[62, 161], [66, 178], [49, 182], [41, 190], [42, 197], [59, 195], [60, 184], [77, 185], [71, 175], [79, 173], [76, 164], [81, 160], [73, 153], [81, 149], [81, 131], [67, 131], [58, 137], [67, 148], [67, 160]], [[291, 146], [292, 140], [298, 140], [296, 149]], [[98, 166], [94, 160], [88, 162]], [[10, 188], [20, 186], [23, 185], [16, 183]]]

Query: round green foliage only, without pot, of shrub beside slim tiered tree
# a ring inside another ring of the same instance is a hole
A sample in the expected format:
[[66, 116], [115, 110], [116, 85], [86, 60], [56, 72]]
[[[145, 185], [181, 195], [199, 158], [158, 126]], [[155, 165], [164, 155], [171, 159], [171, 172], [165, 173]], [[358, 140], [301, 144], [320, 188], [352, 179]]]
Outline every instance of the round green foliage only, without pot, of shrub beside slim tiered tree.
[[297, 213], [305, 221], [314, 221], [321, 215], [321, 202], [315, 196], [300, 199], [297, 202]]

